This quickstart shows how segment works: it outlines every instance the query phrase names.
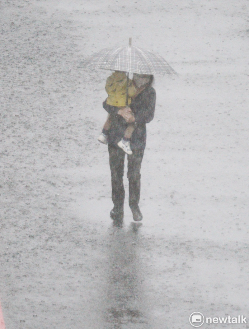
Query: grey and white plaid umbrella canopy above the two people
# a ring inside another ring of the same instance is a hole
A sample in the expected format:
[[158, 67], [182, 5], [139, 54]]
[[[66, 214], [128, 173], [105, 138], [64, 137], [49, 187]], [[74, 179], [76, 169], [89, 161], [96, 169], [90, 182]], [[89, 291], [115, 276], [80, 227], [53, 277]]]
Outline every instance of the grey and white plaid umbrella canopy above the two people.
[[138, 74], [175, 74], [175, 70], [158, 54], [131, 45], [105, 48], [89, 56], [83, 67], [102, 68]]

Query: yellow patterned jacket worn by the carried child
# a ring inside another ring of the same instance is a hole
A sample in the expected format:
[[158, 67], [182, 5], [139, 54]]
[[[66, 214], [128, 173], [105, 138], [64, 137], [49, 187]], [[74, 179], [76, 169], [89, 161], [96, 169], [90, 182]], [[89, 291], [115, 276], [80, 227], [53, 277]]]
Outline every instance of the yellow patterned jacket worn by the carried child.
[[[113, 72], [106, 80], [105, 90], [108, 94], [106, 103], [112, 106], [126, 106], [126, 85], [127, 75], [124, 72]], [[132, 80], [128, 80], [128, 105], [131, 103], [131, 97], [136, 93], [136, 87]]]

